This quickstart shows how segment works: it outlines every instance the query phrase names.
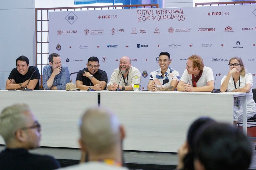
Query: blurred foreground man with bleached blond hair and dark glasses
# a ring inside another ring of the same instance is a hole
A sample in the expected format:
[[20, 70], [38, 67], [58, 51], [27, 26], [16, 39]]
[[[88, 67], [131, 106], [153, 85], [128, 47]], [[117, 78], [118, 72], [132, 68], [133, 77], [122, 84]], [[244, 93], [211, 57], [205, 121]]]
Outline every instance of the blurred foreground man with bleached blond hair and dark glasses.
[[39, 147], [41, 126], [26, 104], [6, 107], [0, 115], [0, 135], [6, 148], [0, 153], [0, 169], [51, 170], [60, 163], [46, 155], [31, 154]]

